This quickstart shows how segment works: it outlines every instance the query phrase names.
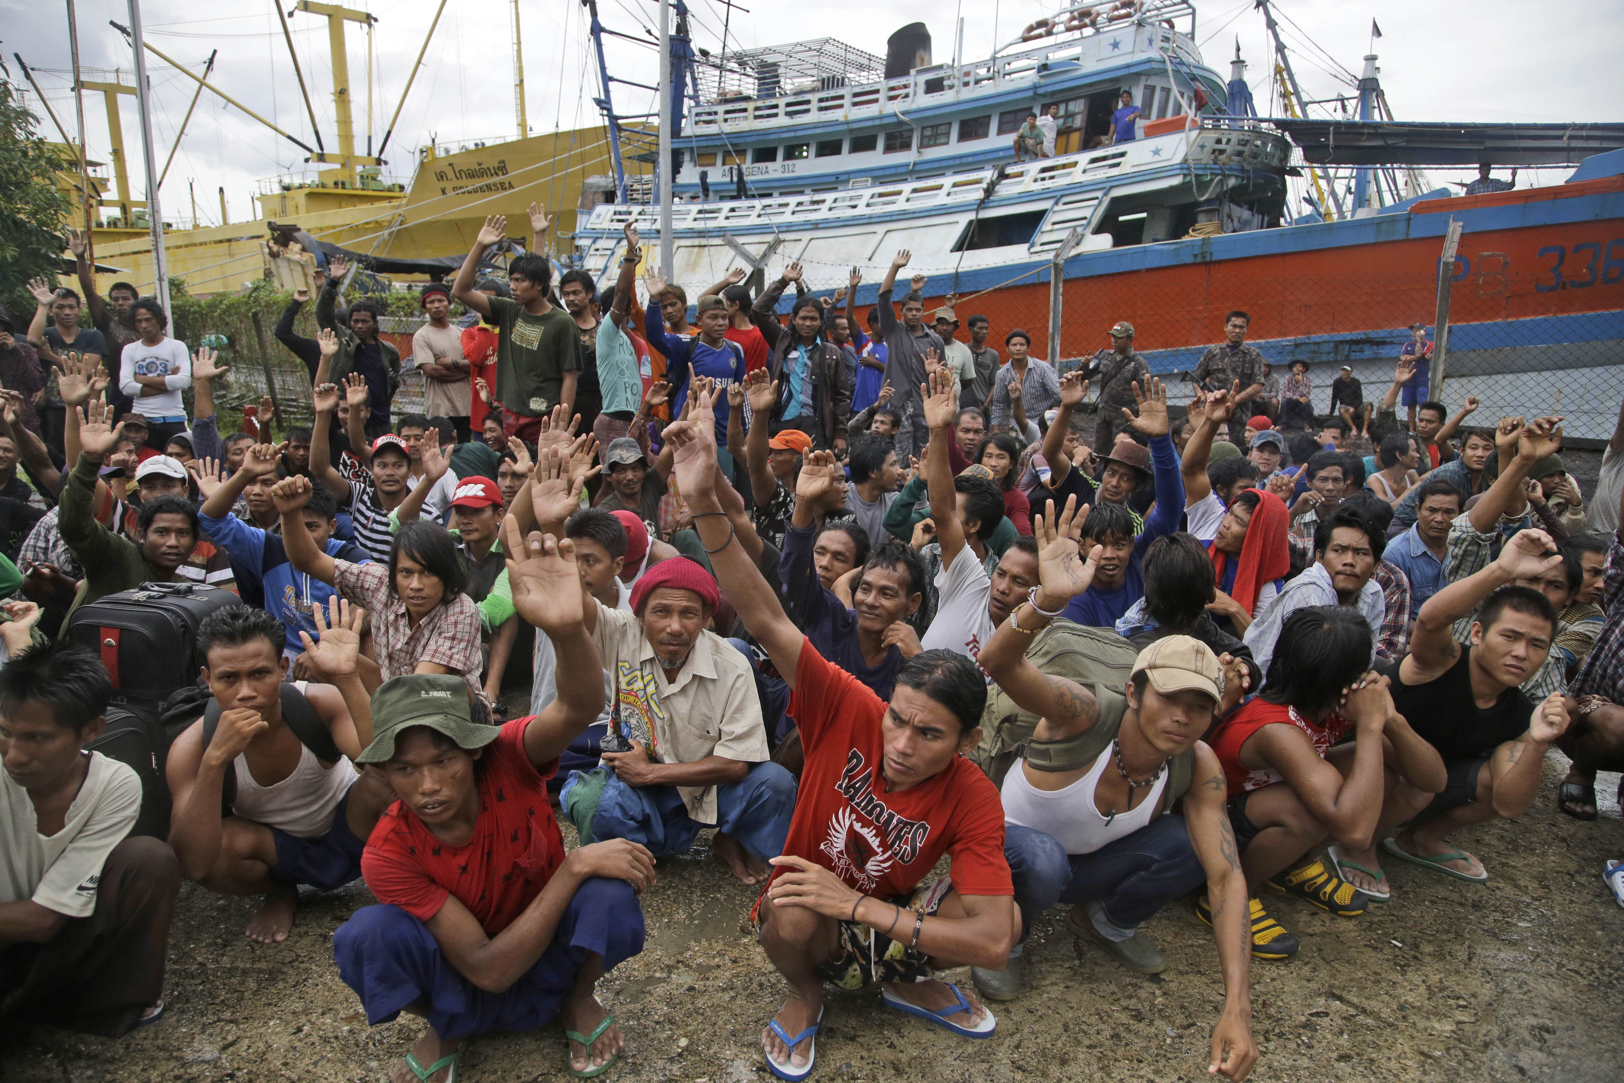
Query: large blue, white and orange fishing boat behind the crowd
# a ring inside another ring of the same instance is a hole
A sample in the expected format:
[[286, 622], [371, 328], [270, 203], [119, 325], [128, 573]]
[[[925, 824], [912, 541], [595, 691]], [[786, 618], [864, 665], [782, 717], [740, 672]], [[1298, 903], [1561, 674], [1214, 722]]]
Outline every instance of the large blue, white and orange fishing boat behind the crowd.
[[[1374, 55], [1354, 119], [1309, 119], [1275, 41], [1291, 114], [1278, 119], [1255, 115], [1239, 57], [1228, 80], [1203, 63], [1184, 0], [1070, 6], [974, 62], [955, 45], [932, 63], [921, 24], [883, 58], [833, 39], [711, 67], [674, 49], [669, 276], [692, 299], [732, 268], [771, 278], [801, 263], [827, 296], [861, 266], [867, 307], [909, 250], [905, 276], [927, 278], [929, 304], [952, 294], [960, 320], [1023, 326], [1062, 369], [1129, 320], [1153, 372], [1187, 373], [1242, 309], [1281, 373], [1302, 359], [1325, 386], [1325, 369], [1351, 365], [1367, 398], [1442, 292], [1455, 401], [1483, 398], [1484, 417], [1543, 409], [1556, 373], [1569, 437], [1609, 435], [1624, 393], [1624, 125], [1402, 123]], [[1124, 91], [1135, 138], [1101, 138]], [[1051, 106], [1046, 156], [1017, 161], [1015, 133]], [[1478, 195], [1421, 172], [1478, 162], [1579, 167], [1567, 183]], [[653, 200], [596, 206], [577, 263], [607, 284], [625, 224], [658, 240], [659, 218]]]

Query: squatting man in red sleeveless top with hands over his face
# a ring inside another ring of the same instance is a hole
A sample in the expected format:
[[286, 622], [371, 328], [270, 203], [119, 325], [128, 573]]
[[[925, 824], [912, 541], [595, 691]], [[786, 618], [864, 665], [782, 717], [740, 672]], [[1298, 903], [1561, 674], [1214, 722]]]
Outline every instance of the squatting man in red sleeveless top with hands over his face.
[[[1212, 737], [1247, 883], [1254, 891], [1268, 883], [1340, 917], [1363, 914], [1371, 898], [1387, 898], [1367, 854], [1384, 817], [1413, 812], [1393, 799], [1395, 789], [1444, 789], [1444, 762], [1393, 708], [1387, 677], [1369, 672], [1371, 635], [1346, 606], [1294, 611], [1263, 693]], [[1337, 745], [1350, 731], [1356, 740]], [[1333, 875], [1317, 857], [1302, 859], [1325, 838], [1333, 839], [1333, 862], [1340, 848], [1341, 867], [1359, 869], [1358, 883]], [[1350, 864], [1361, 857], [1364, 864]], [[1207, 917], [1205, 903], [1197, 913]], [[1254, 900], [1252, 953], [1285, 960], [1296, 951], [1298, 938]]]

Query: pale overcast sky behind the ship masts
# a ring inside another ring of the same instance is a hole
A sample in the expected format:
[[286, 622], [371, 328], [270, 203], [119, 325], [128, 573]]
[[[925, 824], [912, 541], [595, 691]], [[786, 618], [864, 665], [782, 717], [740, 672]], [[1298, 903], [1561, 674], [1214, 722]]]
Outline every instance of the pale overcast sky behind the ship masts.
[[[382, 140], [411, 63], [434, 18], [435, 0], [349, 0], [351, 6], [372, 11], [374, 29], [374, 140]], [[739, 0], [731, 11], [719, 0], [695, 0], [695, 44], [719, 50], [726, 29], [728, 47], [754, 47], [828, 36], [872, 54], [885, 54], [885, 37], [896, 28], [924, 21], [935, 44], [935, 60], [950, 60], [955, 37], [955, 6], [965, 18], [965, 58], [986, 57], [994, 45], [1007, 44], [1020, 29], [1062, 5], [1034, 0], [976, 0], [955, 5], [926, 0]], [[287, 8], [292, 0], [287, 0]], [[749, 10], [745, 10], [749, 8]], [[310, 120], [299, 99], [292, 63], [283, 41], [276, 11], [263, 0], [235, 5], [203, 0], [143, 0], [148, 39], [158, 49], [201, 73], [211, 49], [219, 49], [216, 81], [226, 93], [257, 112], [276, 120], [305, 143]], [[286, 10], [286, 8], [284, 8]], [[440, 143], [502, 140], [518, 133], [513, 107], [513, 39], [510, 0], [455, 0], [447, 5], [434, 42], [417, 73], [417, 81], [390, 141], [387, 169], [393, 179], [409, 182], [416, 148], [430, 138]], [[1613, 52], [1624, 41], [1624, 5], [1582, 2], [1543, 5], [1535, 18], [1527, 3], [1505, 0], [1460, 0], [1416, 3], [1415, 0], [1283, 0], [1275, 3], [1293, 50], [1293, 65], [1311, 99], [1351, 91], [1346, 68], [1358, 76], [1369, 45], [1372, 18], [1384, 37], [1376, 41], [1387, 101], [1403, 120], [1507, 120], [1564, 122], [1616, 120], [1618, 89]], [[252, 11], [221, 15], [222, 11]], [[643, 34], [654, 26], [658, 6], [650, 0], [601, 0], [604, 26]], [[586, 13], [577, 0], [520, 0], [525, 42], [526, 109], [531, 133], [598, 123], [593, 97], [599, 94], [596, 58], [586, 32]], [[132, 55], [125, 39], [107, 26], [109, 19], [128, 23], [127, 0], [78, 0], [81, 63], [88, 80], [106, 80], [123, 68]], [[1289, 21], [1288, 21], [1289, 19]], [[331, 65], [326, 47], [326, 19], [294, 15], [294, 45], [312, 83], [312, 99], [328, 148], [335, 148]], [[1181, 28], [1184, 23], [1181, 21]], [[26, 34], [21, 32], [26, 29]], [[367, 34], [359, 23], [348, 23], [349, 71], [356, 128], [365, 145]], [[67, 13], [62, 0], [0, 0], [0, 36], [5, 37], [8, 67], [13, 50], [41, 68], [47, 99], [73, 132], [71, 76]], [[1272, 49], [1262, 16], [1252, 0], [1215, 0], [1199, 10], [1197, 41], [1210, 67], [1228, 76], [1236, 37], [1250, 62], [1247, 70], [1259, 112], [1272, 102], [1268, 75]], [[638, 83], [653, 83], [654, 49], [607, 39], [611, 73]], [[1328, 50], [1317, 52], [1312, 44]], [[151, 58], [154, 84], [154, 125], [158, 159], [169, 154], [175, 128], [197, 84], [169, 65]], [[1341, 65], [1338, 68], [1337, 65]], [[11, 71], [19, 78], [19, 71]], [[651, 94], [630, 86], [614, 86], [617, 110], [650, 110]], [[125, 99], [123, 127], [140, 177], [138, 127], [133, 99]], [[106, 159], [107, 125], [101, 96], [86, 94], [86, 128], [91, 157]], [[50, 122], [42, 117], [47, 133]], [[205, 93], [164, 182], [164, 218], [187, 219], [187, 182], [198, 190], [203, 224], [218, 221], [218, 185], [234, 221], [248, 218], [250, 193], [260, 182], [309, 170], [304, 151], [266, 132], [239, 110]], [[1429, 170], [1434, 180], [1452, 175]], [[1559, 182], [1569, 170], [1540, 172], [1543, 182]], [[1527, 175], [1527, 170], [1525, 174]], [[206, 196], [206, 198], [205, 198]]]

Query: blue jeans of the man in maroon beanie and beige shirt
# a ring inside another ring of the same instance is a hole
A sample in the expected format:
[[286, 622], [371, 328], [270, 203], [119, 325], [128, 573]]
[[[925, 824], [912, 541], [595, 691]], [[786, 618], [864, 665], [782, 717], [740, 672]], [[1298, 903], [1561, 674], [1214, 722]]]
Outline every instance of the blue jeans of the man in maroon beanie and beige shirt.
[[[565, 794], [573, 783], [572, 774]], [[796, 779], [776, 763], [752, 763], [742, 783], [716, 787], [716, 830], [762, 861], [784, 852], [794, 810]], [[654, 857], [689, 849], [708, 826], [689, 817], [676, 786], [627, 786], [612, 773], [591, 820], [593, 838], [628, 838]]]

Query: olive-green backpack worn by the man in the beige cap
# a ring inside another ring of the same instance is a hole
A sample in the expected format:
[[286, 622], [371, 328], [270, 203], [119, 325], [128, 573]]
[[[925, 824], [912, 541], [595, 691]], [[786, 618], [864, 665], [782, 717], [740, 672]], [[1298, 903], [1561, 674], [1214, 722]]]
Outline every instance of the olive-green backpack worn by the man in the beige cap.
[[[1122, 726], [1127, 713], [1122, 688], [1134, 675], [1137, 658], [1138, 649], [1112, 628], [1090, 628], [1065, 619], [1051, 622], [1033, 636], [1026, 659], [1052, 677], [1075, 680], [1093, 692], [1099, 701], [1099, 721], [1077, 737], [1033, 744], [1038, 716], [1018, 708], [1007, 692], [994, 685], [981, 713], [981, 744], [970, 758], [1000, 787], [1010, 766], [1023, 757], [1044, 771], [1072, 771], [1093, 763], [1111, 747]], [[1177, 755], [1168, 766], [1166, 800], [1173, 802], [1190, 786], [1195, 755]]]

